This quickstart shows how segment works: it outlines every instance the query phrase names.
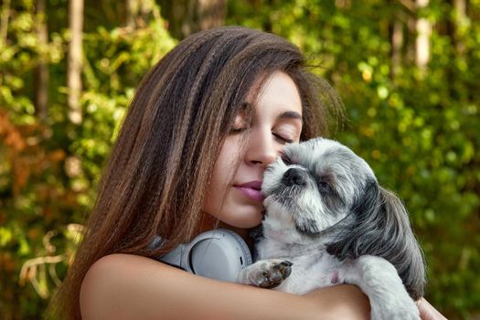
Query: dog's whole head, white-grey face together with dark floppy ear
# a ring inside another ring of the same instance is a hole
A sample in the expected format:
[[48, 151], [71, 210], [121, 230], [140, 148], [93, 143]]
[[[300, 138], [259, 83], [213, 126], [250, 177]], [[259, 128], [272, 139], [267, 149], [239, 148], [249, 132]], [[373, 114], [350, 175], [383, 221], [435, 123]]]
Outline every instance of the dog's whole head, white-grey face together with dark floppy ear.
[[347, 146], [324, 138], [287, 145], [267, 167], [261, 192], [266, 231], [297, 243], [328, 234], [328, 253], [340, 260], [381, 256], [414, 299], [423, 294], [423, 258], [405, 208]]

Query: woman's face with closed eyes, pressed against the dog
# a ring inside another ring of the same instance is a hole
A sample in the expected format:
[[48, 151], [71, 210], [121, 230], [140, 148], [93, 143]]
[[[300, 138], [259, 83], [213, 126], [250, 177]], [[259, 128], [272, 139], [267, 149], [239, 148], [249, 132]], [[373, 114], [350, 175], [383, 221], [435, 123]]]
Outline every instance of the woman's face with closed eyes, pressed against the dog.
[[[252, 102], [251, 95], [246, 103]], [[245, 112], [237, 114], [215, 164], [203, 211], [231, 227], [259, 225], [263, 172], [285, 144], [299, 141], [301, 132], [299, 92], [287, 74], [276, 71], [265, 82], [250, 119]]]

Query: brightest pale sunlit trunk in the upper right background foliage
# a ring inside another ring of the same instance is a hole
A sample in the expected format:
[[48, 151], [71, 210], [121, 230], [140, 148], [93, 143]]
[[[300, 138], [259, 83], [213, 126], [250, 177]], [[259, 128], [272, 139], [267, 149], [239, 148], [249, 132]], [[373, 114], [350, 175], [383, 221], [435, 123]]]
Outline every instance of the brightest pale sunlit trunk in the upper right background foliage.
[[[426, 7], [429, 0], [417, 0], [419, 9]], [[430, 35], [432, 33], [431, 23], [424, 17], [416, 22], [417, 39], [415, 41], [415, 61], [417, 67], [424, 70], [430, 60]]]

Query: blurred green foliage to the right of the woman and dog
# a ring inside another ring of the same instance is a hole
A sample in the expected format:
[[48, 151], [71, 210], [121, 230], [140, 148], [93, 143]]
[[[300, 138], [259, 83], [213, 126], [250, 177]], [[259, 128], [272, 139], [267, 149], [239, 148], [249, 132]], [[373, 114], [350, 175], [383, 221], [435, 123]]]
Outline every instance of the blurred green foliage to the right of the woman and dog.
[[[452, 318], [480, 306], [480, 3], [456, 21], [453, 7], [430, 1], [428, 69], [409, 50], [393, 69], [391, 28], [413, 14], [399, 3], [370, 1], [230, 2], [230, 24], [271, 30], [321, 61], [349, 125], [336, 138], [365, 157], [379, 182], [404, 199], [428, 261], [427, 298]], [[454, 31], [449, 31], [455, 26]]]

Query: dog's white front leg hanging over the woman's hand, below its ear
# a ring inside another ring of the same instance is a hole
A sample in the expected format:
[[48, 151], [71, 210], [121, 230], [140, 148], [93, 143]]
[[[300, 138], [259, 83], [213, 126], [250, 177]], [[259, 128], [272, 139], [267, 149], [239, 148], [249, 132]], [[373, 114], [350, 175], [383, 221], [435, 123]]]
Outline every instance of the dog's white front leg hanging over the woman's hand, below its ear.
[[417, 306], [389, 261], [365, 255], [346, 261], [342, 269], [342, 280], [357, 285], [368, 295], [372, 320], [420, 319]]

